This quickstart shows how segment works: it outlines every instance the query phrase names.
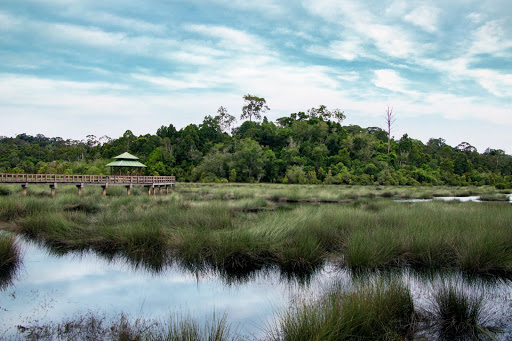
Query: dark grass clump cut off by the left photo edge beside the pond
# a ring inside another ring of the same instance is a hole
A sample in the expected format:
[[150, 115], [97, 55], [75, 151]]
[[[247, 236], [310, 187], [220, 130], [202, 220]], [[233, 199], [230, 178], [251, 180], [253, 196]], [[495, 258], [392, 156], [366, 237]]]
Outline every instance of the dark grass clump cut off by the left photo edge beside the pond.
[[8, 285], [21, 264], [21, 250], [14, 236], [0, 231], [0, 288]]

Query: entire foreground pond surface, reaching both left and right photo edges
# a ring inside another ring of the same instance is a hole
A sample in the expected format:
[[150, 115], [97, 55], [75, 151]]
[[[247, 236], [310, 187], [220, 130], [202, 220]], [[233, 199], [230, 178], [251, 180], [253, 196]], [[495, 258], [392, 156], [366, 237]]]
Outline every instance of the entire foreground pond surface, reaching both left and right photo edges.
[[[315, 297], [333, 283], [349, 288], [355, 280], [372, 281], [382, 275], [358, 274], [327, 264], [306, 279], [266, 269], [233, 281], [214, 272], [194, 274], [175, 265], [154, 273], [93, 252], [57, 256], [32, 242], [20, 242], [23, 266], [13, 283], [0, 291], [0, 338], [14, 336], [19, 325], [56, 322], [93, 311], [161, 320], [178, 312], [199, 321], [214, 312], [226, 313], [240, 334], [257, 339], [264, 337], [266, 328], [293, 302]], [[484, 294], [487, 316], [493, 323], [512, 324], [512, 284], [508, 279], [468, 278], [449, 270], [396, 269], [390, 274], [411, 288], [417, 307], [427, 309], [432, 291], [448, 280], [473, 294]], [[512, 329], [507, 328], [500, 337], [512, 337]]]

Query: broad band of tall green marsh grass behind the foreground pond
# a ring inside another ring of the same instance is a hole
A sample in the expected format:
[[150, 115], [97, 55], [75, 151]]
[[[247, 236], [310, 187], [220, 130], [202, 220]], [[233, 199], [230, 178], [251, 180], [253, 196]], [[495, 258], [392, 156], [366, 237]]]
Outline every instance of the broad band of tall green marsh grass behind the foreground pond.
[[[232, 193], [246, 187], [197, 188]], [[213, 267], [233, 275], [267, 266], [304, 273], [327, 260], [351, 268], [512, 271], [512, 211], [503, 203], [395, 203], [382, 198], [390, 189], [375, 188], [381, 194], [371, 199], [371, 188], [352, 187], [359, 198], [352, 204], [289, 204], [279, 209], [286, 204], [267, 200], [274, 187], [248, 188], [254, 190], [251, 195], [229, 200], [190, 200], [180, 192], [106, 198], [101, 193], [9, 195], [0, 197], [0, 220], [9, 223], [5, 228], [57, 252], [119, 254], [135, 266], [157, 271], [177, 262], [194, 271]], [[308, 192], [321, 200], [331, 187], [290, 188], [296, 198]], [[197, 191], [194, 186], [191, 190]], [[393, 189], [397, 195], [405, 190], [415, 189]]]

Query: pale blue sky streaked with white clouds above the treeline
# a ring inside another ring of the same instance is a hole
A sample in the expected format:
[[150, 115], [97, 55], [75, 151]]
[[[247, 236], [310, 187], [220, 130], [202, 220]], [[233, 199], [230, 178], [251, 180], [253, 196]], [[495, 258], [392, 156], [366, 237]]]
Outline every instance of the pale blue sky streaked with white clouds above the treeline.
[[512, 154], [510, 0], [0, 1], [0, 136], [154, 134], [245, 94]]

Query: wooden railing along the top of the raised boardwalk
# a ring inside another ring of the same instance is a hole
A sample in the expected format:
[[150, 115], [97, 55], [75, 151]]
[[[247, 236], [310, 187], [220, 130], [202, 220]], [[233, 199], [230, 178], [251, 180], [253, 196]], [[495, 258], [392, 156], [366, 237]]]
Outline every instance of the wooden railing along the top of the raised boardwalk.
[[174, 176], [0, 173], [0, 183], [17, 184], [173, 185], [175, 182]]

